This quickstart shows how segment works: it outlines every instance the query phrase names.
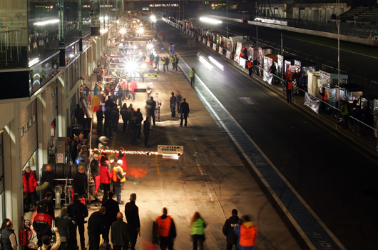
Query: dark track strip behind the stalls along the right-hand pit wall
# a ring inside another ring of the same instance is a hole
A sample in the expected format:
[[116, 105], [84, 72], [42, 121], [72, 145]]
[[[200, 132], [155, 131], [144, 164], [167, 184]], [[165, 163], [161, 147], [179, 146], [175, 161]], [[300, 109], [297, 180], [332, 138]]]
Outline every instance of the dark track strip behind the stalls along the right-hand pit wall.
[[[225, 21], [223, 21], [222, 29], [226, 29]], [[245, 34], [245, 36], [251, 36], [253, 41], [256, 39], [256, 26], [254, 25], [228, 21], [228, 29], [230, 34], [236, 32]], [[302, 59], [315, 61], [318, 67], [324, 65], [325, 70], [337, 70], [337, 40], [317, 38], [316, 36], [307, 36], [307, 39], [302, 40], [301, 37], [303, 38], [306, 35], [259, 26], [257, 34], [259, 43], [262, 42], [263, 44], [272, 46], [275, 48], [275, 53], [279, 53], [281, 49], [281, 32], [284, 51], [295, 54]], [[312, 41], [308, 41], [308, 37], [311, 37], [312, 39], [310, 40]], [[324, 41], [318, 40], [327, 40], [327, 44], [333, 43], [333, 46], [324, 44]], [[367, 79], [375, 79], [375, 81], [378, 81], [378, 58], [346, 50], [346, 48], [349, 49], [351, 47], [358, 47], [358, 49], [356, 49], [357, 51], [361, 49], [364, 51], [373, 51], [377, 50], [377, 48], [340, 41], [341, 74], [349, 75], [349, 83], [358, 83], [361, 86], [365, 86], [365, 91], [367, 91], [365, 93], [377, 96], [378, 86], [369, 86], [369, 88], [367, 88], [366, 83]]]

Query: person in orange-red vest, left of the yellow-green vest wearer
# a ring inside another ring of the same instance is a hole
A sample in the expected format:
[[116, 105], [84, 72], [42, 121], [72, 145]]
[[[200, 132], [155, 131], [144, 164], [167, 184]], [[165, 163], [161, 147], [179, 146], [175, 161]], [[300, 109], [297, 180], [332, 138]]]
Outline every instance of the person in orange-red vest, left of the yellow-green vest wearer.
[[173, 250], [173, 241], [175, 241], [177, 236], [176, 227], [173, 219], [167, 214], [167, 209], [163, 208], [163, 215], [158, 216], [155, 221], [158, 229], [154, 234], [158, 234], [159, 236], [160, 249], [165, 250], [168, 247], [168, 250]]

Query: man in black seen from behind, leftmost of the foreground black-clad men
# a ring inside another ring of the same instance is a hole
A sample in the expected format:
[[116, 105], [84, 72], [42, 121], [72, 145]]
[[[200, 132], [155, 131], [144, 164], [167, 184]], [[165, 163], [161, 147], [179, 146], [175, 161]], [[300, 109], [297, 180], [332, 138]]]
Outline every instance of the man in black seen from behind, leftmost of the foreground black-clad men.
[[78, 226], [78, 233], [80, 234], [81, 250], [86, 249], [86, 239], [84, 236], [84, 219], [88, 217], [88, 209], [86, 205], [80, 202], [80, 198], [77, 193], [73, 194], [73, 203], [68, 205], [67, 211], [69, 216], [76, 222]]

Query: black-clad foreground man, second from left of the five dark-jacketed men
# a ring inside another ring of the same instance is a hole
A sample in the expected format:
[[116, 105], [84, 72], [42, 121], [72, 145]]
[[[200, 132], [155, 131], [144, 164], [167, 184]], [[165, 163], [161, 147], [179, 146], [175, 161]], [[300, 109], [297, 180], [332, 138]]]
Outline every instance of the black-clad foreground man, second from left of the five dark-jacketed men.
[[98, 250], [100, 248], [100, 235], [103, 233], [103, 215], [106, 208], [101, 206], [98, 211], [94, 212], [88, 219], [88, 237], [89, 249]]

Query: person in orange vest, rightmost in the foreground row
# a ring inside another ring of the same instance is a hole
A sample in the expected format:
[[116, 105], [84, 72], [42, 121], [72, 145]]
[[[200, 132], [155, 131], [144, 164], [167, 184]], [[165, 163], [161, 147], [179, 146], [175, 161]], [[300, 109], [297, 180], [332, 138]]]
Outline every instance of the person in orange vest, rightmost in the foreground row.
[[257, 240], [257, 226], [247, 215], [242, 216], [242, 224], [234, 227], [234, 233], [239, 237], [237, 250], [254, 250]]

